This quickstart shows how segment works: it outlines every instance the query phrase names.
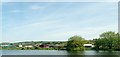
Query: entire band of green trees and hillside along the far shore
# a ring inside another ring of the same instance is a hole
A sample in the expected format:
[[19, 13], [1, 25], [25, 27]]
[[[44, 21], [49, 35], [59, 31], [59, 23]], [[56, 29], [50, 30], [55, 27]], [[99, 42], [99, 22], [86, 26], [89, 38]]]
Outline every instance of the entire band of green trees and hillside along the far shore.
[[[84, 44], [93, 44], [93, 48], [86, 48]], [[81, 36], [72, 36], [68, 41], [38, 41], [38, 42], [19, 42], [19, 43], [1, 43], [8, 45], [1, 47], [3, 50], [68, 50], [83, 51], [89, 49], [95, 50], [120, 50], [120, 34], [112, 31], [100, 34], [99, 38], [85, 40]], [[22, 45], [22, 47], [20, 47]], [[32, 46], [32, 47], [26, 47]]]

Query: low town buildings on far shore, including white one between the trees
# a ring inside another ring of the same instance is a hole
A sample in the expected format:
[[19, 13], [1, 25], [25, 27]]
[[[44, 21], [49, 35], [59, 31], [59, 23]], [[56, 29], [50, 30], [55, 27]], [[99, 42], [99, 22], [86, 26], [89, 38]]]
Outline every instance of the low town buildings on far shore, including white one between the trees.
[[[18, 43], [1, 43], [3, 50], [66, 50], [67, 41], [27, 41]], [[84, 44], [86, 48], [94, 47], [93, 44]]]

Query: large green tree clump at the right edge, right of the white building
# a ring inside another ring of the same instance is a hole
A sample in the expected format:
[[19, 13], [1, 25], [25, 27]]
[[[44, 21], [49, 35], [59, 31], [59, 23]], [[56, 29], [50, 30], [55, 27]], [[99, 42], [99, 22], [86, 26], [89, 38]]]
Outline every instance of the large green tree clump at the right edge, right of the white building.
[[120, 34], [112, 31], [104, 32], [95, 40], [97, 50], [120, 50]]

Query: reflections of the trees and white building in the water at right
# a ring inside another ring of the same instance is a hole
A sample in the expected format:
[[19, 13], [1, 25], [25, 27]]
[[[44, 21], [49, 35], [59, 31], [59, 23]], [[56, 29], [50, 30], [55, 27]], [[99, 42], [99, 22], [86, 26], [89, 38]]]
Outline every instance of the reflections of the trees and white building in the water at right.
[[67, 51], [67, 57], [119, 57], [119, 51]]

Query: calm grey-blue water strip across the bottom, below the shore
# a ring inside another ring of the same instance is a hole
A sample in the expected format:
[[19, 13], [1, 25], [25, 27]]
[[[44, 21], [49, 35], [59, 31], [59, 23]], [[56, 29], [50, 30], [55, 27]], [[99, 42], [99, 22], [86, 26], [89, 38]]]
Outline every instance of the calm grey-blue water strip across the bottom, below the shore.
[[[1, 54], [1, 51], [0, 51]], [[120, 51], [94, 51], [73, 52], [65, 50], [4, 50], [2, 55], [119, 55]]]

